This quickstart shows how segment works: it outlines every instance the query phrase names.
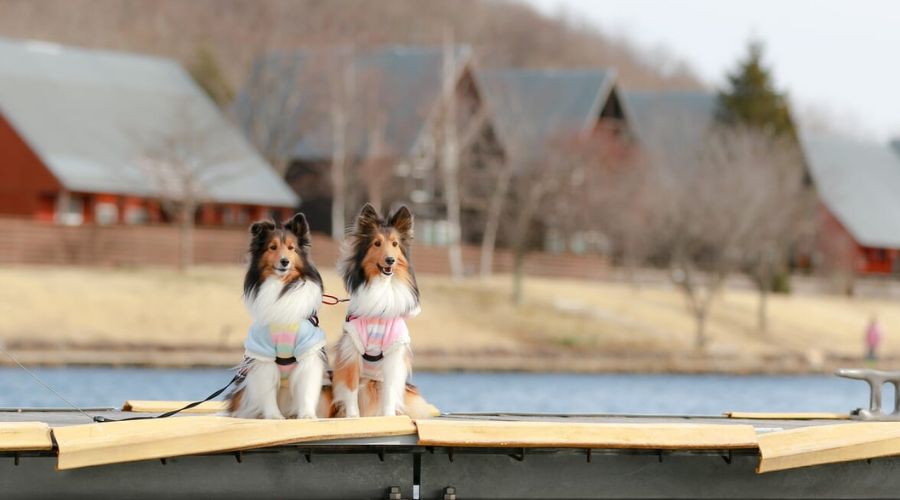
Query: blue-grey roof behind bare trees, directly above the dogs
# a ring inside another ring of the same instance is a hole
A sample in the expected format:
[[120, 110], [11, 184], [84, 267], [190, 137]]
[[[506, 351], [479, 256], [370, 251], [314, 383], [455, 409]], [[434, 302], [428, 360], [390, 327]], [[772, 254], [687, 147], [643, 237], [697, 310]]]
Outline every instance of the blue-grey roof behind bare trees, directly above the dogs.
[[[470, 59], [468, 47], [454, 47], [457, 79]], [[287, 145], [293, 158], [330, 158], [330, 113], [339, 92], [334, 87], [346, 84], [346, 77], [355, 96], [348, 110], [350, 153], [366, 154], [367, 134], [382, 120], [385, 146], [407, 155], [439, 104], [443, 63], [441, 47], [388, 46], [352, 54], [333, 48], [272, 52], [257, 60], [235, 111], [245, 130], [253, 119], [297, 127], [299, 140]]]

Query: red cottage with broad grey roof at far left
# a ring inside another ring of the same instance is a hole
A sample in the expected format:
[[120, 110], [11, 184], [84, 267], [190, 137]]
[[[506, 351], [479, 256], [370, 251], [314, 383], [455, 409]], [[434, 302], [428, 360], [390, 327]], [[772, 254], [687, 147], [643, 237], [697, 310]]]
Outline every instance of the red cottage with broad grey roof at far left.
[[63, 224], [286, 215], [297, 196], [175, 61], [0, 40], [0, 215]]

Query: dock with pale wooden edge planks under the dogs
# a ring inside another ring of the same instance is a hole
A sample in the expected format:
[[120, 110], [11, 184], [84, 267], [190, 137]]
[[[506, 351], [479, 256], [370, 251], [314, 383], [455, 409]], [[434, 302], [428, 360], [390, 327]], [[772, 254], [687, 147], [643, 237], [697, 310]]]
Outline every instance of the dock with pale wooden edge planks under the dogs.
[[[133, 403], [125, 407], [159, 412], [180, 404]], [[218, 409], [108, 423], [74, 411], [2, 411], [2, 497], [347, 499], [390, 498], [394, 488], [394, 498], [422, 499], [893, 498], [900, 491], [900, 423], [846, 415], [267, 421], [203, 414]]]

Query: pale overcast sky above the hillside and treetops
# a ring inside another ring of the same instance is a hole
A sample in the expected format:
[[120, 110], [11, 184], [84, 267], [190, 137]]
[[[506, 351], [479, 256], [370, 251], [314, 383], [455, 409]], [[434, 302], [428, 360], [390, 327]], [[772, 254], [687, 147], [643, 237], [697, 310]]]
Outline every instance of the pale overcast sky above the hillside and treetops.
[[522, 0], [684, 60], [719, 87], [751, 39], [806, 127], [900, 137], [900, 1]]

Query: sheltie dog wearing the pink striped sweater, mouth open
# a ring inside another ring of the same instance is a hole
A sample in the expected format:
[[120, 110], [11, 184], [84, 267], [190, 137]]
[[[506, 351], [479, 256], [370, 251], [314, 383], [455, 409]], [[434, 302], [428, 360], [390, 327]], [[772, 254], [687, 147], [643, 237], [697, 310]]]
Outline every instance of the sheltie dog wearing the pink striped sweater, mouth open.
[[331, 416], [436, 413], [407, 384], [412, 353], [405, 318], [420, 310], [410, 262], [412, 238], [408, 208], [382, 218], [366, 204], [344, 241], [338, 273], [350, 294], [350, 307], [337, 346]]

